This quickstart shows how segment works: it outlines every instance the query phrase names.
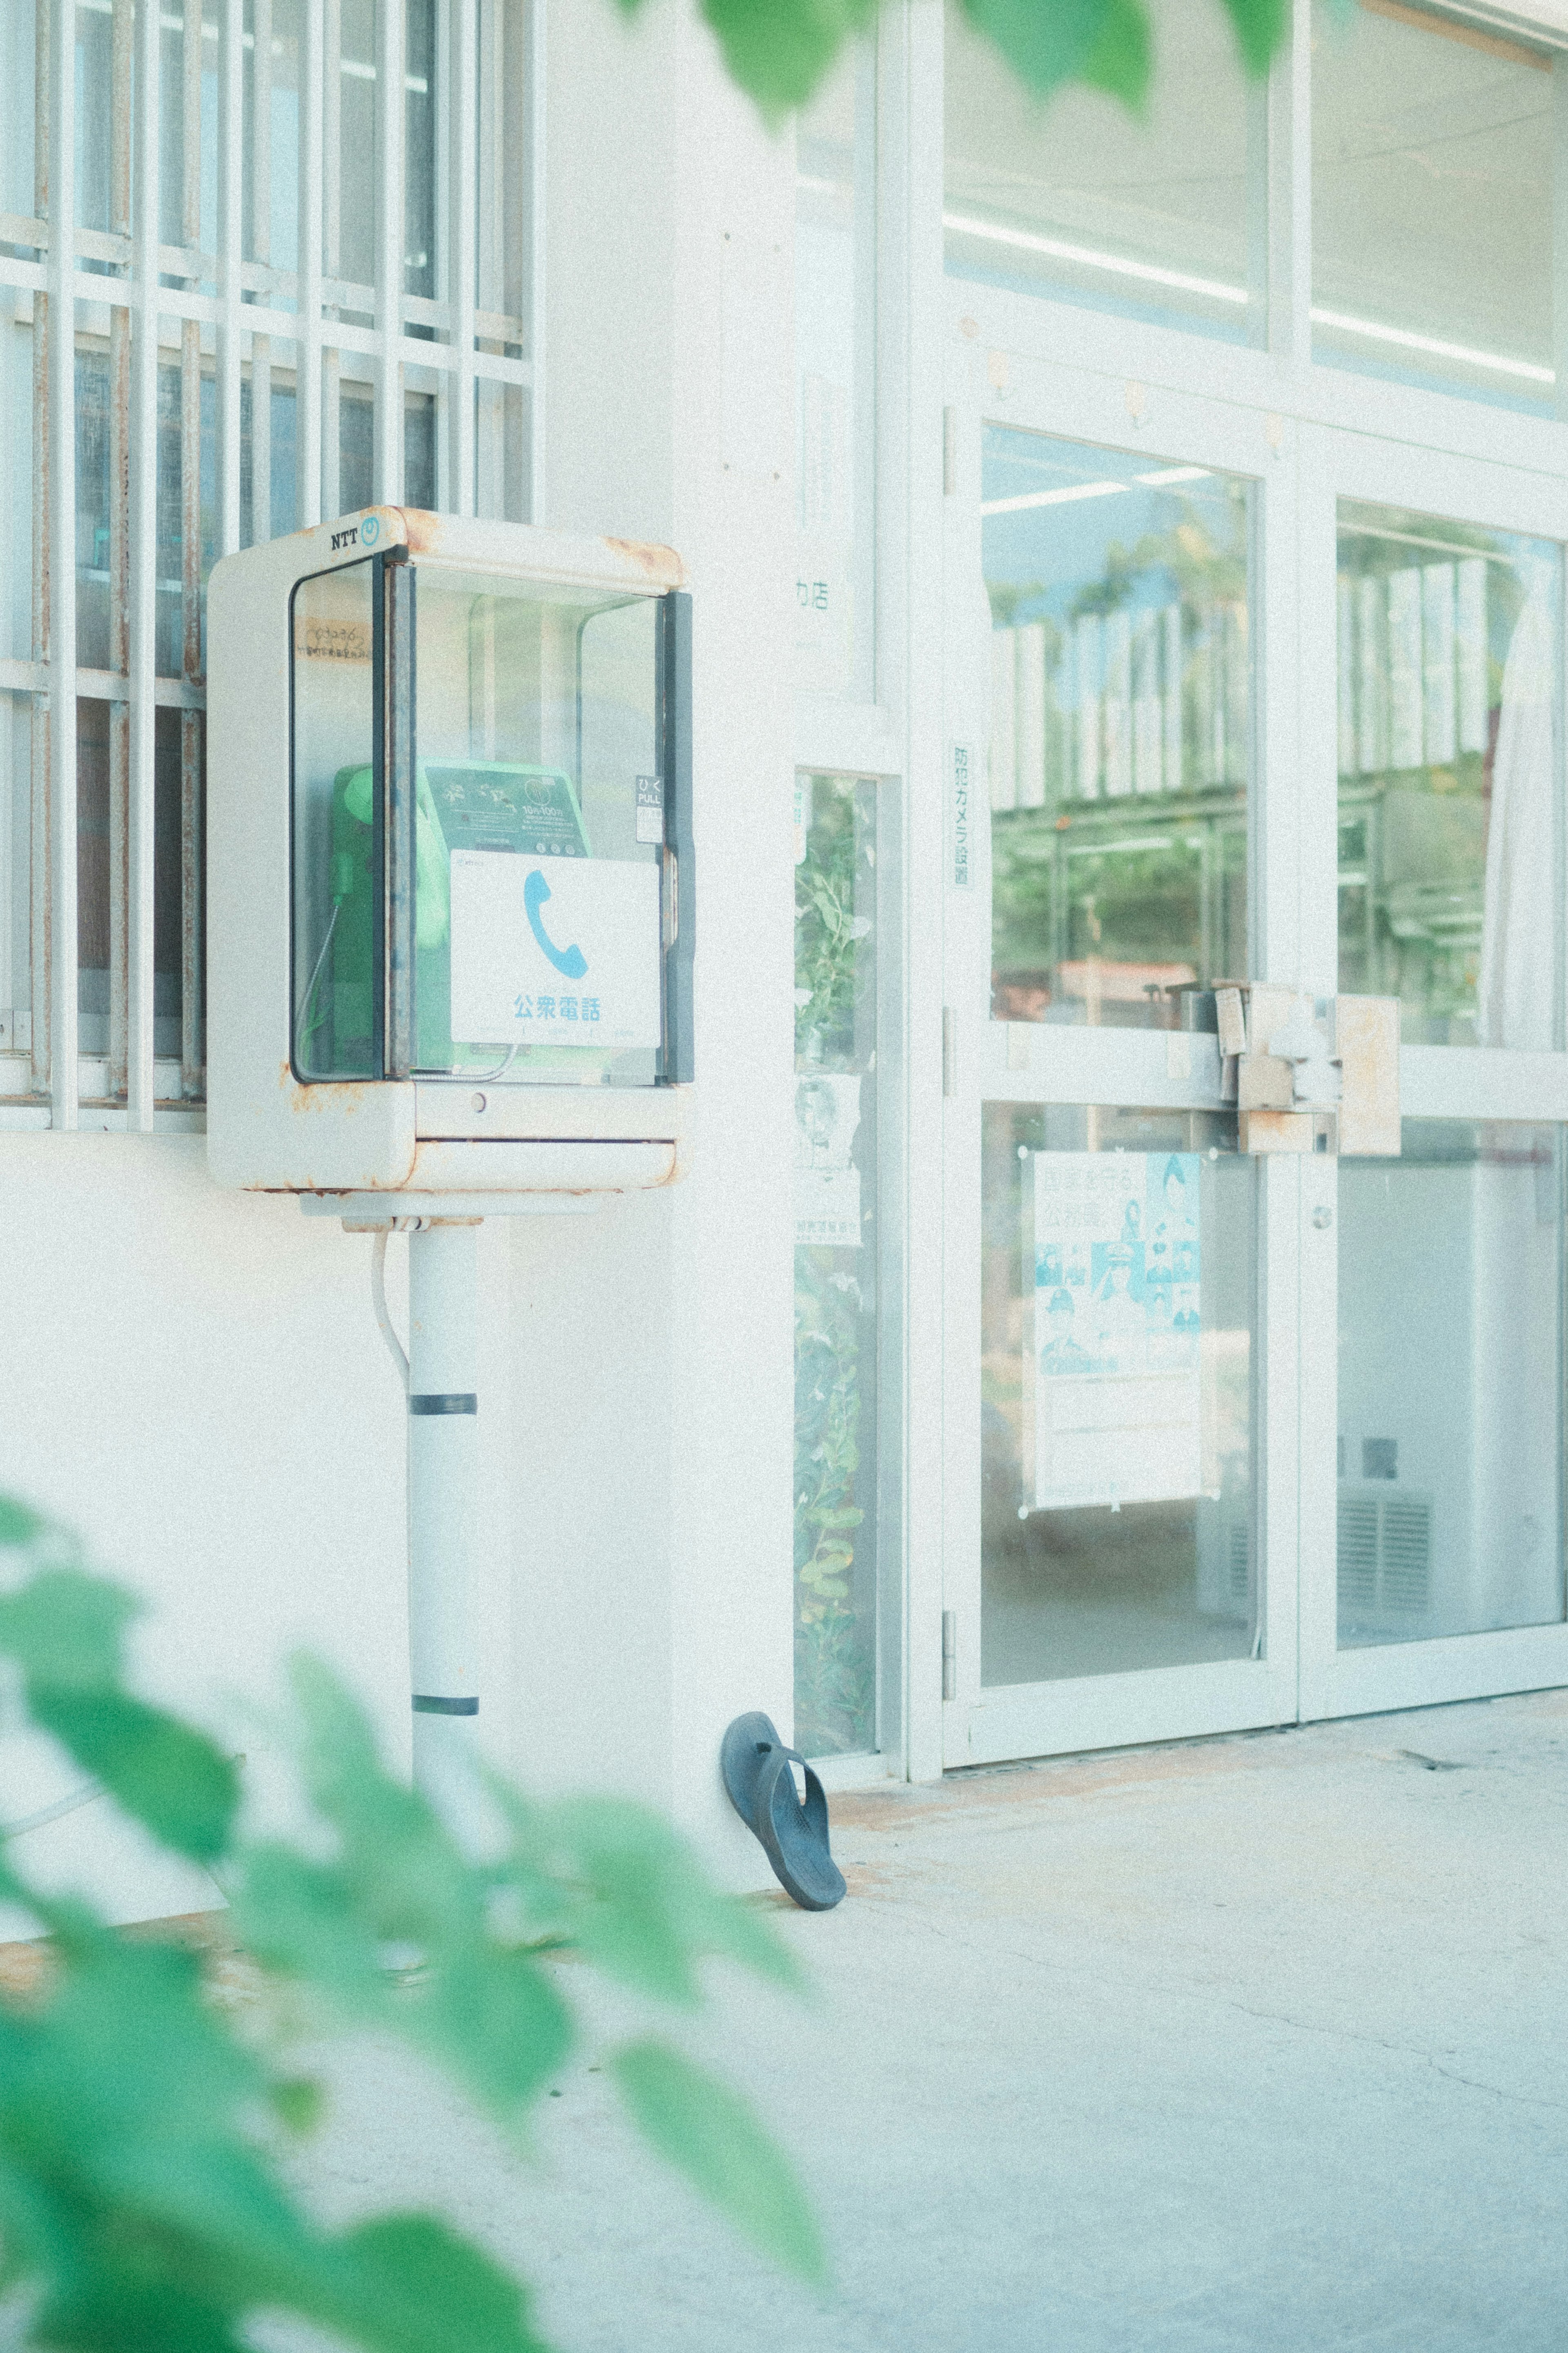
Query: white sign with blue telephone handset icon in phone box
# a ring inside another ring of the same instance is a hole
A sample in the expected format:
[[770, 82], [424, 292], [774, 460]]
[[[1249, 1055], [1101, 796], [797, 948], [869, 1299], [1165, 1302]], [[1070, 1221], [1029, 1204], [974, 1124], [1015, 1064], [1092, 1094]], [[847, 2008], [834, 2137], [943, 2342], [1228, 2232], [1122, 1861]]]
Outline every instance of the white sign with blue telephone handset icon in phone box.
[[656, 1047], [658, 864], [451, 852], [461, 1045]]

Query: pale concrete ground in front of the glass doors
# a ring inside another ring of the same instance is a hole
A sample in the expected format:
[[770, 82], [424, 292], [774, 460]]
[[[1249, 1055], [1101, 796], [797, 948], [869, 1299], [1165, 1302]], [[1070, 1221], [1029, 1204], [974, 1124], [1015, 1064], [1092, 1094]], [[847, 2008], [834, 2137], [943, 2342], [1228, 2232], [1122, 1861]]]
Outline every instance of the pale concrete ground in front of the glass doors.
[[1561, 2353], [1566, 1835], [1568, 1692], [835, 1800], [849, 1899], [773, 1908], [816, 2000], [724, 1977], [689, 2031], [797, 2155], [830, 2297], [588, 2064], [522, 2165], [371, 2054], [308, 2172], [334, 2217], [442, 2205], [557, 2353]]

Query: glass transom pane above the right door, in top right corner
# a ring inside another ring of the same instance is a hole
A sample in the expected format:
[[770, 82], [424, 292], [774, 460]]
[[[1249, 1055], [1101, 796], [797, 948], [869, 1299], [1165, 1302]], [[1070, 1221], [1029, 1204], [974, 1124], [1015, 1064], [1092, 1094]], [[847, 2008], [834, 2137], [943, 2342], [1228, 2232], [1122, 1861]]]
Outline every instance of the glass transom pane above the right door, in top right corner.
[[1552, 409], [1552, 75], [1399, 0], [1312, 12], [1312, 322], [1324, 358]]

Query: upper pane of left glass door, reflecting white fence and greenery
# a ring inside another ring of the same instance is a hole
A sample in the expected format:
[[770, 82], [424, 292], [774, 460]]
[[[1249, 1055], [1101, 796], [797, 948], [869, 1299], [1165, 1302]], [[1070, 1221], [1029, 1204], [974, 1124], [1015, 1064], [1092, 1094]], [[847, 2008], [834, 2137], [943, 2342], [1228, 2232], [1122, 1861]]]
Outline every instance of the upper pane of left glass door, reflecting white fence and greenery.
[[992, 1014], [1175, 1026], [1246, 972], [1251, 487], [990, 426]]

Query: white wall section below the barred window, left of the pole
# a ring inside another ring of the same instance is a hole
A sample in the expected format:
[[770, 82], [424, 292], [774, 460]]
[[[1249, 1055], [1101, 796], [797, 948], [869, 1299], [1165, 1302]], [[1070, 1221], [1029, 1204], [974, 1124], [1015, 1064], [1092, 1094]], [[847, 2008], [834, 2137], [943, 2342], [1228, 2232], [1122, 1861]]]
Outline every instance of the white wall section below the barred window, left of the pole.
[[[0, 1485], [146, 1595], [148, 1687], [261, 1758], [277, 1671], [310, 1645], [407, 1755], [404, 1412], [369, 1242], [221, 1193], [200, 1136], [5, 1134], [0, 1202]], [[0, 1819], [80, 1779], [5, 1744]], [[122, 1918], [216, 1901], [132, 1868], [103, 1807], [19, 1857], [94, 1861]]]

